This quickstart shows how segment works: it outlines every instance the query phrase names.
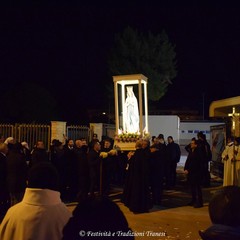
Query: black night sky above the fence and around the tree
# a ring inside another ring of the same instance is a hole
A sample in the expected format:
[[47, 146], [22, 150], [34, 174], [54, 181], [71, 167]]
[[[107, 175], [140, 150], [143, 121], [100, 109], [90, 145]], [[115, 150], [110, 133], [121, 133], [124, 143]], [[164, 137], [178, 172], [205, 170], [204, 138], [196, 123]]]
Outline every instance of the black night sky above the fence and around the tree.
[[[150, 2], [149, 2], [150, 3]], [[116, 33], [165, 29], [176, 45], [177, 77], [160, 107], [202, 111], [211, 101], [239, 95], [240, 14], [237, 7], [32, 5], [2, 7], [1, 92], [36, 83], [55, 98], [61, 119], [79, 109], [108, 109], [107, 59]], [[151, 81], [151, 79], [149, 79]]]

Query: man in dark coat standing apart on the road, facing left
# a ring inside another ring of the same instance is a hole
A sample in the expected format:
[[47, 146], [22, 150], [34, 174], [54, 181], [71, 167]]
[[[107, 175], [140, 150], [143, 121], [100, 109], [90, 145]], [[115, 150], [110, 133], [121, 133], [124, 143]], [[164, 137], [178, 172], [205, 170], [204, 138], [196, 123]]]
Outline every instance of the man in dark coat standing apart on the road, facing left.
[[203, 206], [202, 198], [202, 177], [203, 177], [203, 155], [201, 149], [194, 139], [191, 141], [191, 151], [188, 154], [184, 166], [184, 172], [187, 174], [187, 180], [191, 188], [192, 200], [188, 205], [195, 208]]

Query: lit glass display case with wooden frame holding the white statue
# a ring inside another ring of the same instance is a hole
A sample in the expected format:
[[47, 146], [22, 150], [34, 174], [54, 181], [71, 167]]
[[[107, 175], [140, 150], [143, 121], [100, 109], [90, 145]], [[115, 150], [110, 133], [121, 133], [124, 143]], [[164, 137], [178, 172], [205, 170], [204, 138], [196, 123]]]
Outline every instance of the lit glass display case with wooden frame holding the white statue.
[[142, 74], [113, 76], [115, 145], [135, 149], [135, 142], [149, 135], [147, 77]]

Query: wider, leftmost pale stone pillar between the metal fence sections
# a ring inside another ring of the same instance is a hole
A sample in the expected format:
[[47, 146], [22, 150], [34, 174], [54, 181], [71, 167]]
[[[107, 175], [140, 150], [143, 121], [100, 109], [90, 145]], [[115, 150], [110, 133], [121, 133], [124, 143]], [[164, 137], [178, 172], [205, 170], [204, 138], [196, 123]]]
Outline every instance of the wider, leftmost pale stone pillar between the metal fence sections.
[[66, 124], [67, 122], [51, 121], [51, 142], [53, 139], [58, 139], [65, 143]]

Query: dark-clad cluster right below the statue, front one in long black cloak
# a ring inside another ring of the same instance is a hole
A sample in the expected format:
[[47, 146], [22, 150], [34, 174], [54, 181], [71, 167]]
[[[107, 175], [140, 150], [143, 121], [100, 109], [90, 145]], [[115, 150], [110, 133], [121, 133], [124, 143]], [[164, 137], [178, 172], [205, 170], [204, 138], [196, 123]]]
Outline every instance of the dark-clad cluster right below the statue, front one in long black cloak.
[[135, 151], [127, 153], [122, 202], [132, 212], [143, 213], [153, 205], [161, 205], [164, 189], [175, 187], [181, 150], [172, 136], [166, 143], [163, 134], [153, 137], [152, 142], [139, 140], [135, 147]]

